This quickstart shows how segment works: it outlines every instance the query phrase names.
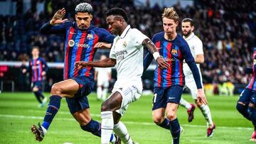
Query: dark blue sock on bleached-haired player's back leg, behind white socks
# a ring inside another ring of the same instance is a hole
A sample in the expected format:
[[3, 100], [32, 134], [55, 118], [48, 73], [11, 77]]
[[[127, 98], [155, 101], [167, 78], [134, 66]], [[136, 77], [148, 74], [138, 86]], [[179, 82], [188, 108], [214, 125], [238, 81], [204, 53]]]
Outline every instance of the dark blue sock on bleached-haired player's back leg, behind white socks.
[[[85, 126], [80, 126], [82, 128], [83, 131], [88, 131], [90, 133], [92, 133], [93, 135], [96, 135], [98, 137], [101, 136], [101, 126], [100, 126], [100, 123], [97, 122], [97, 121], [94, 121], [93, 119], [87, 123], [87, 125]], [[114, 138], [114, 135], [112, 134], [111, 135], [111, 138], [110, 138], [110, 142], [113, 140]]]

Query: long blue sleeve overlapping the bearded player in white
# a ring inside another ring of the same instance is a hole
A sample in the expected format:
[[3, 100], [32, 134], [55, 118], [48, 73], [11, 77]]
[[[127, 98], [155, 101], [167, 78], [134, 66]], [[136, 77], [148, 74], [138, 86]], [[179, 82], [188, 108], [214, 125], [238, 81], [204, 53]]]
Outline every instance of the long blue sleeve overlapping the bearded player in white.
[[184, 40], [183, 45], [181, 45], [181, 52], [182, 52], [182, 55], [183, 55], [186, 63], [188, 64], [188, 67], [191, 69], [193, 78], [196, 81], [196, 87], [198, 89], [201, 89], [202, 84], [201, 84], [201, 77], [199, 74], [199, 70], [198, 70], [198, 67], [196, 67], [196, 62], [193, 58], [193, 55], [191, 54], [191, 50], [188, 47], [188, 43], [186, 43], [185, 40]]

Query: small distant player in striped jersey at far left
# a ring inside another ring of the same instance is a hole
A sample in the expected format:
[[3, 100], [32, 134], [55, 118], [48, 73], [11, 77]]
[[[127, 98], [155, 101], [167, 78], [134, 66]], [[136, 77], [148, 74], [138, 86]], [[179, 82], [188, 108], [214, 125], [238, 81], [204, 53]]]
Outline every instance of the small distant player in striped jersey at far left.
[[38, 100], [39, 107], [43, 107], [46, 104], [47, 98], [43, 96], [41, 92], [43, 86], [43, 80], [45, 79], [46, 72], [48, 71], [48, 66], [46, 64], [46, 60], [42, 57], [39, 57], [39, 48], [37, 46], [33, 46], [32, 58], [28, 62], [28, 67], [22, 70], [23, 73], [29, 72], [31, 74], [31, 88], [33, 93]]

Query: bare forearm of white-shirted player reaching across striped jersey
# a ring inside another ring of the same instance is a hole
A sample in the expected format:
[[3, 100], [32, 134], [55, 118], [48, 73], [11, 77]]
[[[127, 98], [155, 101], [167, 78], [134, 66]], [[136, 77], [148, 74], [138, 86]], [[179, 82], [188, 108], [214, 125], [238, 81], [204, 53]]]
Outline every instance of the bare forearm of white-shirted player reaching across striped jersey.
[[84, 62], [79, 61], [75, 62], [75, 69], [81, 70], [84, 67], [114, 67], [117, 61], [112, 58], [106, 58], [104, 60], [96, 61], [96, 62]]

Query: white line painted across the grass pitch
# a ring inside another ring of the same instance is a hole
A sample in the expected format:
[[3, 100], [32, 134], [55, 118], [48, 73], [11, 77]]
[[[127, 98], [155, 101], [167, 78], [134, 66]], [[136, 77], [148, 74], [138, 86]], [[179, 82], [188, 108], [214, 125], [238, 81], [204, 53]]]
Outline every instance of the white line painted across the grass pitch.
[[[92, 114], [93, 115], [93, 114]], [[95, 114], [96, 115], [96, 114]], [[0, 117], [5, 117], [5, 118], [27, 118], [27, 119], [41, 119], [43, 120], [42, 116], [23, 116], [23, 115], [11, 115], [11, 114], [0, 114]], [[60, 120], [60, 121], [75, 121], [75, 118], [54, 118], [55, 120]], [[127, 124], [133, 124], [133, 125], [146, 125], [146, 126], [153, 126], [155, 125], [153, 122], [152, 123], [147, 123], [147, 122], [134, 122], [134, 121], [123, 121], [124, 123]], [[188, 125], [188, 124], [181, 124], [181, 126], [184, 127], [191, 127], [191, 128], [206, 128], [206, 126], [202, 125]], [[228, 127], [228, 126], [218, 126], [217, 128], [221, 129], [237, 129], [237, 130], [250, 130], [252, 131], [253, 128], [244, 128], [244, 127]]]

